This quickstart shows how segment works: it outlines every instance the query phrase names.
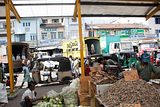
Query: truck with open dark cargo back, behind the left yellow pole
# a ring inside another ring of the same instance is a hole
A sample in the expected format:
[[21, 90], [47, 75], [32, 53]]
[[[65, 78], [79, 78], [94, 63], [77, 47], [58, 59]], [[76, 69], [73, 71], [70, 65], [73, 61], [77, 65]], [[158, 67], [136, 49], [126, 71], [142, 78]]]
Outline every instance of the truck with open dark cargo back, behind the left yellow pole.
[[[29, 44], [13, 42], [12, 43], [12, 60], [14, 72], [22, 71], [22, 59], [26, 59], [29, 56]], [[8, 54], [7, 45], [0, 45], [0, 62], [5, 64], [5, 72], [8, 70]]]

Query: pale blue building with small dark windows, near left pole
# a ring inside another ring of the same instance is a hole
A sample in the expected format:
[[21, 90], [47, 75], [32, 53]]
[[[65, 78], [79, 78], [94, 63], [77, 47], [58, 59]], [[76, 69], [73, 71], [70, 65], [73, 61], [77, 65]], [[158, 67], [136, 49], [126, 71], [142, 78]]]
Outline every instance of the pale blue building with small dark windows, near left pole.
[[40, 36], [40, 18], [23, 18], [21, 22], [14, 21], [14, 41], [29, 43], [30, 47], [37, 47]]

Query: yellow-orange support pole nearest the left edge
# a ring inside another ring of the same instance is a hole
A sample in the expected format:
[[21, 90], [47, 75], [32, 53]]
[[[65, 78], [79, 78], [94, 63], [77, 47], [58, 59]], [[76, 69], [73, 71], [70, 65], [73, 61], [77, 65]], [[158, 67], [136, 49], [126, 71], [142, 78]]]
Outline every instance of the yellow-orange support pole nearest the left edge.
[[11, 22], [10, 22], [10, 0], [5, 0], [6, 7], [6, 23], [7, 23], [7, 46], [8, 46], [8, 64], [10, 77], [10, 92], [14, 90], [13, 63], [12, 63], [12, 41], [11, 41]]

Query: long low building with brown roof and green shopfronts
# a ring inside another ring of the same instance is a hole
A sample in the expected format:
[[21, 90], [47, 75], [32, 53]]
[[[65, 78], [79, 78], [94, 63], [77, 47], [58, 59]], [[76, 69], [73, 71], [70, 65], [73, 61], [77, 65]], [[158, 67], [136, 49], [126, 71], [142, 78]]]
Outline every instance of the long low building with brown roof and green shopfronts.
[[86, 33], [88, 36], [144, 36], [149, 33], [149, 28], [140, 24], [85, 24]]

